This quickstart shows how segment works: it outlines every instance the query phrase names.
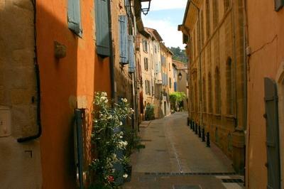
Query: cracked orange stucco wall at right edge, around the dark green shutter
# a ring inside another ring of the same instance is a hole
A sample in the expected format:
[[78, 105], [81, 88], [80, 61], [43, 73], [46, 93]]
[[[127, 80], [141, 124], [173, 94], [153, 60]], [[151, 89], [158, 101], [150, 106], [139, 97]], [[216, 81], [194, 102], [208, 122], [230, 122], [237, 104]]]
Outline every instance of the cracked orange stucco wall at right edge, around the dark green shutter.
[[[284, 9], [274, 11], [274, 1], [247, 1], [247, 16], [249, 46], [252, 53], [248, 61], [246, 186], [266, 188], [266, 120], [263, 118], [265, 113], [263, 80], [264, 77], [275, 80], [280, 63], [284, 60]], [[279, 126], [283, 127], [283, 125]], [[283, 141], [283, 139], [280, 140]]]

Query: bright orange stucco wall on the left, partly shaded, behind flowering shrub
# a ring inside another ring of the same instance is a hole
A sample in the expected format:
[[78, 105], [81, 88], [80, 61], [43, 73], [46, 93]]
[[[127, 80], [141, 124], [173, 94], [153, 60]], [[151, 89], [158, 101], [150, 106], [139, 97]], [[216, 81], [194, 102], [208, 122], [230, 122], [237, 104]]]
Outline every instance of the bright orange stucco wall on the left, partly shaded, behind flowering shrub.
[[[74, 108], [86, 109], [88, 147], [94, 92], [110, 95], [109, 58], [95, 53], [94, 1], [80, 1], [82, 38], [67, 27], [67, 0], [36, 2], [43, 188], [75, 188]], [[55, 59], [54, 41], [66, 46], [65, 58]], [[90, 159], [89, 151], [86, 158]]]

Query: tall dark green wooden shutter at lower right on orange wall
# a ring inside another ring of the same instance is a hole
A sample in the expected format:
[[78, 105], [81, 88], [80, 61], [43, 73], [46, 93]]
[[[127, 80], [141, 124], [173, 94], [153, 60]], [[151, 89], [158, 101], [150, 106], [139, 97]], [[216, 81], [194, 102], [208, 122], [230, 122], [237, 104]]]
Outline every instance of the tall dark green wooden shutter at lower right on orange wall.
[[267, 188], [280, 188], [280, 155], [278, 129], [278, 95], [273, 80], [264, 78], [266, 103], [266, 148], [267, 148]]

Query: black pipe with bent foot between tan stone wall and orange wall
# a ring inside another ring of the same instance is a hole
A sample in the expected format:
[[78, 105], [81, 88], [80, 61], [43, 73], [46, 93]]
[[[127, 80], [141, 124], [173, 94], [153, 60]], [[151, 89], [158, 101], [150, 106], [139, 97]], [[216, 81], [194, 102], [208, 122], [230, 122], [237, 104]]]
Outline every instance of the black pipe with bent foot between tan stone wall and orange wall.
[[41, 136], [41, 119], [40, 119], [40, 71], [38, 68], [38, 53], [37, 53], [37, 47], [36, 47], [36, 0], [32, 0], [31, 3], [33, 4], [33, 25], [34, 25], [34, 52], [35, 52], [35, 58], [33, 58], [34, 65], [35, 65], [35, 80], [36, 80], [36, 88], [37, 88], [37, 109], [36, 109], [36, 117], [37, 117], [37, 124], [38, 124], [38, 133], [32, 136], [27, 136], [23, 138], [17, 139], [18, 143], [22, 143], [25, 141], [31, 141], [34, 139], [38, 139]]

